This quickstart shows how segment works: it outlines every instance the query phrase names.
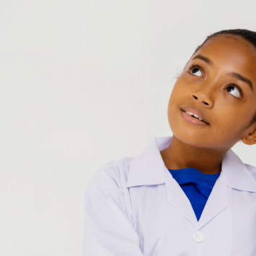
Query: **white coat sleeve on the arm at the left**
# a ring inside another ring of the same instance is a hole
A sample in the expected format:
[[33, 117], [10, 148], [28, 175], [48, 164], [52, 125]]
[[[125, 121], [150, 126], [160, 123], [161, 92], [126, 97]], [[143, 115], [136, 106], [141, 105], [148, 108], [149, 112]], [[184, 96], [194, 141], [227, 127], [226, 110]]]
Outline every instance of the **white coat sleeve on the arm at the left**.
[[116, 169], [101, 169], [87, 186], [83, 256], [143, 256], [120, 176]]

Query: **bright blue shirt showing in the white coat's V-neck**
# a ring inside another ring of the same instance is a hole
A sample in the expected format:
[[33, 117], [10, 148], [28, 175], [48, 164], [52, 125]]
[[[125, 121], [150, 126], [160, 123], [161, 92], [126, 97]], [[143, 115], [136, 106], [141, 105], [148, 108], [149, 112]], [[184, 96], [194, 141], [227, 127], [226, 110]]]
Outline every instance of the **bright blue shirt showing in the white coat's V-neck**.
[[211, 190], [221, 172], [215, 175], [206, 175], [194, 168], [169, 169], [169, 172], [187, 195], [199, 221]]

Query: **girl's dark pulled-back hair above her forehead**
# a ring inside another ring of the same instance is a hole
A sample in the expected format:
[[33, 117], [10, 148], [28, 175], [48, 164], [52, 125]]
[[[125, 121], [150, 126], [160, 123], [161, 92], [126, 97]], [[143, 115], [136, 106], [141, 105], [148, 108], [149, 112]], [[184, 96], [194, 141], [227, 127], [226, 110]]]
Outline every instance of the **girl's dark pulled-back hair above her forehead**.
[[[237, 35], [239, 37], [244, 38], [244, 40], [247, 40], [247, 42], [250, 42], [254, 47], [256, 51], [256, 32], [251, 31], [251, 30], [242, 30], [242, 29], [237, 29], [237, 30], [221, 30], [218, 32], [215, 32], [211, 35], [208, 35], [206, 37], [206, 40], [203, 41], [201, 45], [199, 45], [196, 49], [193, 55], [211, 38], [213, 37], [218, 37], [219, 35]], [[192, 56], [193, 56], [192, 55]], [[186, 65], [187, 66], [187, 65]], [[253, 123], [256, 122], [256, 112], [255, 115], [253, 116], [252, 120], [250, 123], [248, 123], [247, 128], [249, 128]]]

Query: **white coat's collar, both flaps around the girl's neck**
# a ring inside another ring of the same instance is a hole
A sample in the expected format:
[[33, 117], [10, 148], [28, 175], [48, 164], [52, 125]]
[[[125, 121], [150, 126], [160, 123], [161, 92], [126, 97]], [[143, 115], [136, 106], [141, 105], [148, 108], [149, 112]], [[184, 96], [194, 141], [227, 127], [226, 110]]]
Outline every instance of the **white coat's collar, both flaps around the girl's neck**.
[[[166, 182], [167, 168], [160, 154], [172, 141], [172, 137], [158, 137], [131, 162], [127, 187], [158, 185]], [[168, 171], [169, 172], [169, 171]], [[221, 182], [237, 190], [256, 192], [256, 181], [239, 156], [231, 149], [222, 160]]]

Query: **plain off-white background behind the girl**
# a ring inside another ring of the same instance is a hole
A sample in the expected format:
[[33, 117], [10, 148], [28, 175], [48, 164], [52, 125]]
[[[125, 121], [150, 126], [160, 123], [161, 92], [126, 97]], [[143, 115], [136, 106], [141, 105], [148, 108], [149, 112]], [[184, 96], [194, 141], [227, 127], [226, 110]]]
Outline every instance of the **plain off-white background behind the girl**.
[[[0, 255], [81, 255], [97, 169], [172, 136], [175, 76], [255, 1], [0, 1]], [[256, 165], [256, 147], [237, 144]]]

